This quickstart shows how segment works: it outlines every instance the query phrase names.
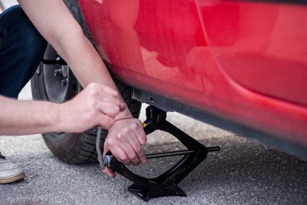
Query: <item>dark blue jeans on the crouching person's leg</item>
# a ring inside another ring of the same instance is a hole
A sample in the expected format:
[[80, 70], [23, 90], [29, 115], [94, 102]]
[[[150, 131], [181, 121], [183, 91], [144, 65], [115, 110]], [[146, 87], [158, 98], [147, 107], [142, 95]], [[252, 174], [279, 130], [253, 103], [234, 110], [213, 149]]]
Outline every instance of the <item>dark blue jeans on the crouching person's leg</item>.
[[46, 40], [19, 5], [0, 14], [0, 95], [18, 97], [46, 47]]

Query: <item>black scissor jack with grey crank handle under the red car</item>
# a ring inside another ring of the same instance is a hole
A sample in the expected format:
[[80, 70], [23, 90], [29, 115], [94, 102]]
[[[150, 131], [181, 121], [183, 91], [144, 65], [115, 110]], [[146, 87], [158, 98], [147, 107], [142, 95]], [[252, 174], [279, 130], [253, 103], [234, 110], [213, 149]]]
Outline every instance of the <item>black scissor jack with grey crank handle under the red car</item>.
[[[106, 155], [102, 157], [101, 152], [99, 154], [100, 136], [99, 139], [97, 136], [97, 142], [99, 140], [99, 144], [96, 144], [96, 148], [101, 168], [104, 169], [104, 167], [110, 167], [118, 174], [133, 181], [134, 184], [131, 185], [128, 190], [145, 201], [150, 198], [161, 196], [186, 196], [185, 192], [177, 186], [178, 183], [180, 183], [207, 157], [208, 152], [220, 151], [221, 148], [206, 148], [200, 144], [200, 142], [170, 124], [170, 122], [166, 120], [166, 112], [156, 107], [148, 106], [146, 108], [146, 117], [147, 119], [143, 123], [146, 135], [155, 130], [162, 130], [178, 138], [187, 148], [187, 150], [176, 152], [148, 154], [146, 155], [146, 158], [150, 159], [184, 155], [183, 158], [165, 173], [156, 178], [148, 179], [131, 172], [125, 165], [123, 165], [123, 163], [118, 161], [111, 152], [106, 153]], [[98, 131], [98, 135], [99, 133], [101, 135], [101, 130]]]

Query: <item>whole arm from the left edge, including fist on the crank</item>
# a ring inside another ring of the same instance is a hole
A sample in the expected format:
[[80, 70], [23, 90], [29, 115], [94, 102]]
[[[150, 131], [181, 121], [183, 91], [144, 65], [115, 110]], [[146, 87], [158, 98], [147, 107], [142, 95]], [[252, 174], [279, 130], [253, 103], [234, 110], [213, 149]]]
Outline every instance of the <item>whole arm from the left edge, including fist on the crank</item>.
[[63, 104], [0, 96], [0, 135], [83, 132], [94, 126], [109, 129], [125, 108], [117, 97], [115, 90], [99, 84], [87, 86]]

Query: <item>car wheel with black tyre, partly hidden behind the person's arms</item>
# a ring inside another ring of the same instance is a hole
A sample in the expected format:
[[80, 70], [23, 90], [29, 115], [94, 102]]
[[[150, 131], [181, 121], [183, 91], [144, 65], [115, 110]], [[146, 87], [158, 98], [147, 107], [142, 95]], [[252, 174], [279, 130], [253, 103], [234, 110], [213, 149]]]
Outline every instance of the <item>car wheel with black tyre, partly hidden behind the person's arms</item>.
[[[52, 46], [48, 45], [44, 59], [55, 60], [59, 56]], [[123, 96], [131, 114], [138, 118], [141, 103], [131, 98], [131, 88], [114, 78], [119, 92]], [[63, 103], [78, 94], [82, 87], [67, 65], [47, 65], [41, 63], [31, 79], [33, 99]], [[96, 162], [97, 127], [83, 133], [43, 133], [42, 137], [51, 152], [69, 163]], [[107, 131], [102, 131], [101, 149]]]

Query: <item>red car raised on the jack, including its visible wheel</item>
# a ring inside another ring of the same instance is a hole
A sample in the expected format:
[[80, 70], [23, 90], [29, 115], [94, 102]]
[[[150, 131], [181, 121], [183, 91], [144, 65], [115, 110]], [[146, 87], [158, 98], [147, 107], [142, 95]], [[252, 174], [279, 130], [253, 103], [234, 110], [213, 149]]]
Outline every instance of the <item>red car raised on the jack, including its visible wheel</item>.
[[[304, 1], [64, 2], [135, 117], [143, 102], [307, 157]], [[32, 78], [34, 98], [61, 103], [81, 89], [48, 46]], [[59, 158], [81, 163], [97, 160], [96, 133], [43, 138]]]

